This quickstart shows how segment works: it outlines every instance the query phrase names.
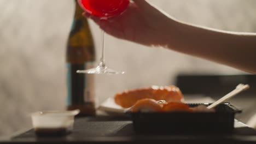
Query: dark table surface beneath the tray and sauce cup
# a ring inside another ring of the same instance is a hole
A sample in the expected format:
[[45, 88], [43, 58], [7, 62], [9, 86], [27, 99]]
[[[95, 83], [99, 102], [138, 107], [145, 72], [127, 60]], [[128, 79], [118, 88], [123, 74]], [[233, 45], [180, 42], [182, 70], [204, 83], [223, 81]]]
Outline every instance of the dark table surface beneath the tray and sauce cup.
[[37, 137], [28, 130], [0, 143], [256, 143], [256, 130], [235, 120], [231, 133], [138, 134], [129, 117], [76, 118], [74, 130], [62, 137]]

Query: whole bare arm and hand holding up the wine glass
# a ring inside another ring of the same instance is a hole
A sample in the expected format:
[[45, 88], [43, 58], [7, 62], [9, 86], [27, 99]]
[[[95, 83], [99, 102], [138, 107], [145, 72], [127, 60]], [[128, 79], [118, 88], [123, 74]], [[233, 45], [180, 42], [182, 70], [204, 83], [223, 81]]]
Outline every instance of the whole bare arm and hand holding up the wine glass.
[[256, 74], [255, 33], [226, 32], [181, 22], [147, 0], [133, 0], [123, 14], [107, 21], [87, 13], [84, 16], [114, 37], [166, 47]]

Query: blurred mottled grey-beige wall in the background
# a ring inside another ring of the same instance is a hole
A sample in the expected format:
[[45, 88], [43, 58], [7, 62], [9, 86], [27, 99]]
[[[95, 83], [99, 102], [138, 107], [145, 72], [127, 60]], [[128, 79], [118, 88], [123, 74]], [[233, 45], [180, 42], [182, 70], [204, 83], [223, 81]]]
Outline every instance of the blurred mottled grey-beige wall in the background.
[[[254, 0], [151, 0], [179, 20], [256, 32]], [[65, 45], [72, 0], [0, 0], [0, 135], [31, 126], [29, 113], [65, 109]], [[100, 29], [90, 21], [100, 53]], [[107, 36], [106, 61], [126, 75], [97, 75], [99, 102], [123, 89], [169, 85], [177, 73], [241, 74], [223, 65]]]

